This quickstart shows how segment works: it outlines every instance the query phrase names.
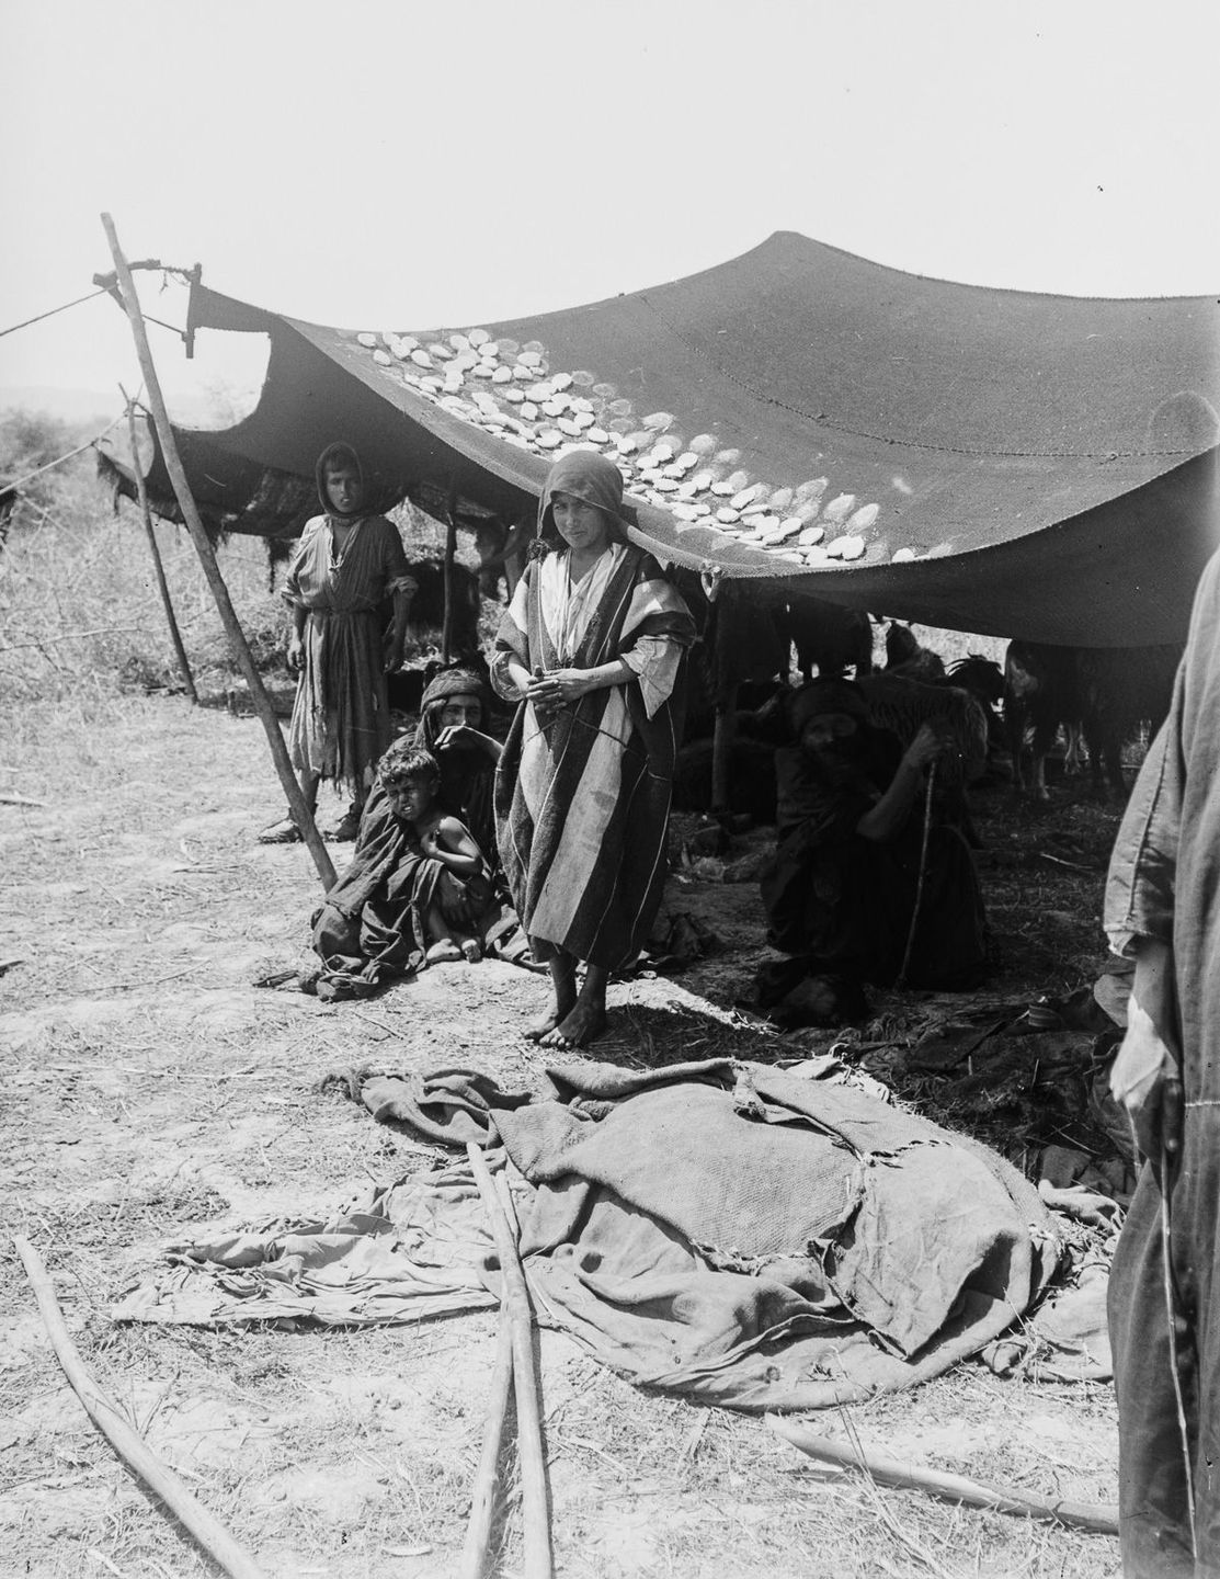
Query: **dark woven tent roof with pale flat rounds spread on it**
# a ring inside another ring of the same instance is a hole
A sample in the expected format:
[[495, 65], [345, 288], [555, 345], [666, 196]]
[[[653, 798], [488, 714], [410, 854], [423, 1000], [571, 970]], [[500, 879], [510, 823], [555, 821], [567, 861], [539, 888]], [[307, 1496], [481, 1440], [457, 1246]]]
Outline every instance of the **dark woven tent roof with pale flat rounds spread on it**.
[[1217, 543], [1212, 297], [982, 289], [780, 232], [502, 324], [352, 332], [196, 286], [191, 327], [271, 339], [251, 417], [182, 434], [219, 512], [344, 437], [387, 496], [516, 518], [593, 444], [664, 562], [1089, 646], [1177, 639]]

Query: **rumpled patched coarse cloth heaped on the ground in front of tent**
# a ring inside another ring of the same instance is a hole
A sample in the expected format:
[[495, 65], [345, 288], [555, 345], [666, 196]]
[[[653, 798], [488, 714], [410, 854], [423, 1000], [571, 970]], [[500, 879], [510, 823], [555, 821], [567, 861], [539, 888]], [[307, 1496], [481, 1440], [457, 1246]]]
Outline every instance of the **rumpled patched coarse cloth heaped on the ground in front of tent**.
[[[720, 1060], [646, 1074], [551, 1071], [556, 1096], [455, 1101], [402, 1080], [401, 1116], [443, 1112], [503, 1145], [540, 1318], [642, 1386], [737, 1408], [818, 1408], [911, 1386], [974, 1355], [1042, 1293], [1059, 1241], [1002, 1157], [876, 1096]], [[393, 1080], [361, 1086], [382, 1115]], [[412, 1091], [414, 1088], [414, 1091]], [[491, 1126], [496, 1134], [491, 1135]], [[178, 1246], [125, 1320], [417, 1320], [499, 1285], [464, 1167], [363, 1213]]]

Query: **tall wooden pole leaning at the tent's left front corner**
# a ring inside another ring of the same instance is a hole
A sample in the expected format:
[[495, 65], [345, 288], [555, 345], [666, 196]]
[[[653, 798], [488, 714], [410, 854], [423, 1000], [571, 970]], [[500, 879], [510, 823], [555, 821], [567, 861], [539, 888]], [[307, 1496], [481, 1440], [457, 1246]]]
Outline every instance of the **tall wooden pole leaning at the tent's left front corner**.
[[314, 813], [309, 810], [305, 796], [301, 794], [301, 786], [297, 782], [297, 775], [292, 771], [287, 747], [284, 745], [284, 736], [279, 729], [279, 720], [271, 707], [271, 698], [267, 695], [262, 677], [254, 666], [254, 657], [249, 651], [246, 633], [241, 630], [241, 621], [237, 617], [237, 611], [234, 609], [229, 597], [229, 587], [224, 584], [221, 567], [216, 564], [216, 551], [211, 546], [211, 540], [204, 529], [199, 510], [196, 508], [191, 485], [186, 482], [186, 472], [183, 471], [182, 458], [178, 455], [178, 445], [174, 442], [174, 429], [169, 425], [169, 412], [166, 411], [166, 403], [161, 396], [161, 384], [158, 382], [153, 354], [148, 347], [148, 332], [144, 327], [144, 314], [140, 313], [139, 297], [136, 295], [136, 281], [131, 278], [128, 261], [118, 245], [114, 219], [109, 213], [104, 213], [101, 216], [101, 223], [106, 229], [106, 240], [110, 243], [110, 254], [114, 257], [118, 284], [123, 292], [123, 306], [136, 341], [136, 354], [140, 358], [144, 387], [148, 390], [148, 409], [153, 415], [156, 436], [161, 441], [161, 455], [166, 463], [166, 471], [169, 472], [169, 480], [174, 486], [174, 496], [178, 501], [178, 508], [186, 521], [191, 542], [194, 543], [199, 561], [204, 565], [204, 575], [211, 587], [211, 595], [216, 600], [216, 608], [219, 609], [226, 635], [229, 636], [229, 644], [234, 649], [238, 668], [241, 669], [241, 676], [245, 677], [249, 695], [254, 701], [254, 711], [259, 714], [262, 726], [267, 731], [267, 744], [271, 747], [271, 759], [275, 761], [275, 769], [279, 774], [279, 783], [284, 786], [284, 794], [287, 796], [287, 802], [292, 810], [292, 820], [301, 831], [305, 845], [314, 859], [314, 865], [317, 867], [317, 875], [322, 878], [322, 886], [330, 889], [335, 883], [335, 867], [331, 865], [327, 846], [322, 843], [322, 835], [317, 832]]

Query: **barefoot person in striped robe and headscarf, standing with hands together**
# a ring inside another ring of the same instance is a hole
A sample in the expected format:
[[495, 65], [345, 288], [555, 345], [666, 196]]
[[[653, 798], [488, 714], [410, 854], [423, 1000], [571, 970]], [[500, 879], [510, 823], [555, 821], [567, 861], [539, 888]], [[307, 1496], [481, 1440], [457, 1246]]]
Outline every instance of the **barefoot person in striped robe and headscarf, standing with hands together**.
[[[627, 540], [619, 467], [573, 450], [548, 474], [533, 557], [496, 641], [518, 711], [496, 775], [500, 861], [549, 1011], [526, 1033], [579, 1047], [606, 1025], [609, 973], [639, 952], [664, 886], [694, 622]], [[578, 992], [576, 965], [584, 962]]]

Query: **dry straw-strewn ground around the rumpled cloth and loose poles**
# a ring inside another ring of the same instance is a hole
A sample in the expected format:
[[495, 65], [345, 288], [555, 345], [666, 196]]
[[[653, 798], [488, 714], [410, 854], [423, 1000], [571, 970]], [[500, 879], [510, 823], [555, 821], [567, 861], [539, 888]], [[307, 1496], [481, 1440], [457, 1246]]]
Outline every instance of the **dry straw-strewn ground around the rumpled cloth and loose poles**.
[[[254, 842], [281, 805], [259, 725], [128, 699], [13, 711], [6, 733], [0, 790], [46, 804], [0, 805], [0, 958], [19, 960], [0, 976], [0, 1574], [216, 1571], [88, 1423], [13, 1233], [46, 1258], [99, 1383], [268, 1576], [456, 1573], [494, 1314], [314, 1333], [118, 1326], [109, 1309], [194, 1228], [327, 1211], [429, 1165], [418, 1142], [317, 1094], [328, 1069], [462, 1063], [540, 1088], [543, 1060], [518, 1026], [541, 982], [456, 965], [339, 1006], [256, 987], [301, 958], [319, 897], [300, 848]], [[1002, 988], [1078, 985], [1103, 954], [1097, 864], [1113, 818], [1068, 808], [1056, 823], [996, 801], [983, 824]], [[732, 1011], [762, 952], [754, 886], [674, 881], [671, 903], [728, 947], [680, 982], [614, 987], [606, 1053], [791, 1052]], [[540, 1353], [570, 1579], [1117, 1571], [1110, 1538], [821, 1476], [758, 1420], [644, 1396], [556, 1333]], [[1105, 1383], [1001, 1380], [971, 1363], [811, 1424], [1046, 1495], [1116, 1494]], [[511, 1574], [515, 1495], [503, 1528]]]

